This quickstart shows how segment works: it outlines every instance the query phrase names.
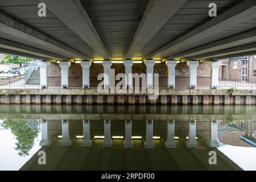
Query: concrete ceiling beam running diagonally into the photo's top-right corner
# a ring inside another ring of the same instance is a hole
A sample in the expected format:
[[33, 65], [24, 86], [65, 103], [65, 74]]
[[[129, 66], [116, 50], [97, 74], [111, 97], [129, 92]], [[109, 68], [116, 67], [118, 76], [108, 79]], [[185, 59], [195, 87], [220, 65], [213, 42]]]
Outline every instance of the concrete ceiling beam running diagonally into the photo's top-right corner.
[[172, 54], [179, 52], [180, 49], [185, 49], [189, 44], [198, 42], [199, 40], [208, 38], [218, 32], [234, 27], [236, 24], [254, 18], [256, 16], [255, 11], [255, 0], [242, 1], [217, 17], [210, 19], [208, 22], [201, 24], [201, 26], [156, 50], [147, 57], [171, 57]]

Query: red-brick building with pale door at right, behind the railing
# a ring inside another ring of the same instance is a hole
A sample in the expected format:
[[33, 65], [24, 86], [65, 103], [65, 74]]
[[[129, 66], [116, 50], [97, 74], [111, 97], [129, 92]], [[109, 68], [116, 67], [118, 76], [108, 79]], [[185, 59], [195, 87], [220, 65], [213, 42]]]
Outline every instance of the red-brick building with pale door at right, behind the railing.
[[221, 60], [221, 78], [256, 78], [256, 56]]

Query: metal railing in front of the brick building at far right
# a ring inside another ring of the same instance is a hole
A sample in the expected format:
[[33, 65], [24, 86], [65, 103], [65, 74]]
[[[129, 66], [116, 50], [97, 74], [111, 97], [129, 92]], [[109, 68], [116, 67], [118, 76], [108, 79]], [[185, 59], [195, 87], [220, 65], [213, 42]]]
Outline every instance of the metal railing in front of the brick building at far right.
[[256, 78], [219, 78], [220, 88], [256, 88]]

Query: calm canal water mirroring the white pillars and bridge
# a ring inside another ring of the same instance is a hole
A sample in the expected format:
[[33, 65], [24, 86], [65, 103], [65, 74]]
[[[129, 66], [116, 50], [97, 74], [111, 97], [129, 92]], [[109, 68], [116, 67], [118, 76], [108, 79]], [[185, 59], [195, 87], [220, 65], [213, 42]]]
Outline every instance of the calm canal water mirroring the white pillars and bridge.
[[255, 110], [0, 105], [0, 170], [256, 170]]

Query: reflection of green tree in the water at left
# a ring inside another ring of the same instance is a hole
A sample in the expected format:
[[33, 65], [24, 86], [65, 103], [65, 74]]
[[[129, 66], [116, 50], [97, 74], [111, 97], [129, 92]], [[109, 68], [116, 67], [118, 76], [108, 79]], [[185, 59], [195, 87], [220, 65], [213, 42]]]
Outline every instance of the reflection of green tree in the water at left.
[[38, 137], [39, 131], [31, 129], [25, 119], [5, 120], [2, 126], [10, 128], [11, 133], [16, 136], [15, 150], [18, 151], [19, 156], [29, 155], [29, 151], [34, 146], [34, 141]]

